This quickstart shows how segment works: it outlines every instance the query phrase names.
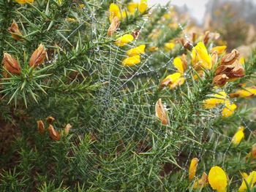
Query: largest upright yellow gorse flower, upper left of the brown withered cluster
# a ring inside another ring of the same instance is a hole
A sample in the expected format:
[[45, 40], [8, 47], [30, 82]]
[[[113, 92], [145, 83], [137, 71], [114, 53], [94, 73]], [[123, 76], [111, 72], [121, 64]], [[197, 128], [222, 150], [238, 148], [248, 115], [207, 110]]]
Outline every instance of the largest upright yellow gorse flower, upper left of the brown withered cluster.
[[211, 69], [211, 55], [208, 54], [203, 42], [198, 42], [192, 49], [192, 65], [195, 68], [203, 67], [204, 69]]

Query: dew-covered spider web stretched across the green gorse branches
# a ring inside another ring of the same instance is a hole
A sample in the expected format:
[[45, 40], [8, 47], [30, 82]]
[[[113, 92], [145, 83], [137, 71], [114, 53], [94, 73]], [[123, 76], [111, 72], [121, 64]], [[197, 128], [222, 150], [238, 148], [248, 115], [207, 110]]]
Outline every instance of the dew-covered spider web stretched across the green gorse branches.
[[[159, 7], [155, 9], [159, 9]], [[83, 164], [86, 164], [88, 168], [83, 174], [88, 174], [86, 176], [90, 178], [91, 183], [95, 182], [96, 178], [91, 178], [91, 173], [97, 172], [95, 165], [98, 165], [97, 167], [100, 169], [100, 173], [103, 174], [102, 177], [108, 180], [110, 186], [119, 185], [120, 182], [127, 183], [130, 181], [130, 175], [126, 170], [126, 166], [131, 161], [131, 158], [134, 158], [135, 154], [145, 155], [146, 153], [150, 153], [152, 142], [154, 142], [155, 146], [159, 145], [157, 148], [162, 150], [160, 153], [164, 153], [165, 150], [160, 147], [162, 142], [170, 142], [170, 139], [176, 139], [178, 137], [176, 132], [181, 134], [182, 137], [188, 137], [189, 133], [186, 129], [184, 131], [178, 131], [177, 128], [162, 127], [155, 117], [154, 106], [156, 101], [161, 98], [161, 95], [158, 93], [159, 83], [166, 70], [168, 74], [175, 72], [173, 68], [173, 56], [159, 49], [157, 53], [146, 52], [146, 54], [141, 55], [141, 63], [136, 66], [122, 66], [121, 62], [126, 58], [127, 50], [143, 44], [143, 40], [139, 37], [138, 40], [129, 43], [125, 48], [117, 47], [114, 43], [111, 43], [108, 49], [102, 48], [98, 45], [100, 40], [105, 39], [106, 42], [113, 40], [105, 37], [105, 34], [101, 33], [103, 29], [99, 29], [99, 26], [105, 26], [106, 23], [103, 20], [97, 20], [88, 10], [84, 9], [84, 11], [91, 18], [91, 37], [96, 38], [93, 39], [95, 47], [90, 55], [90, 60], [94, 61], [94, 64], [81, 62], [84, 68], [90, 72], [91, 76], [97, 73], [97, 81], [102, 82], [104, 86], [95, 96], [94, 113], [90, 116], [89, 121], [86, 122], [86, 126], [78, 130], [79, 135], [83, 135], [85, 132], [93, 133], [96, 139], [96, 142], [91, 144], [95, 154], [92, 156], [81, 154], [80, 156], [81, 159], [84, 159]], [[139, 29], [140, 33], [143, 33], [149, 21], [148, 16], [143, 16], [142, 23], [134, 25], [130, 28], [130, 31]], [[178, 19], [176, 21], [178, 22]], [[188, 39], [189, 36], [184, 32], [181, 23], [178, 23], [178, 27], [183, 31], [181, 35], [185, 39]], [[121, 36], [123, 31], [119, 30], [116, 34]], [[184, 47], [181, 47], [181, 49], [184, 50]], [[167, 62], [160, 61], [161, 64], [155, 65], [159, 62], [155, 54], [161, 55], [164, 58], [163, 60]], [[191, 74], [187, 73], [185, 77], [186, 81], [182, 85], [184, 90], [192, 86], [192, 83], [189, 81], [189, 78], [192, 78]], [[172, 91], [166, 89], [166, 93], [168, 93], [168, 97], [165, 97], [163, 100], [170, 115], [171, 125], [173, 125], [176, 123], [176, 120], [172, 119], [172, 112], [174, 110], [169, 101], [183, 101], [185, 98], [182, 94], [179, 94], [181, 93], [180, 88]], [[179, 104], [181, 103], [176, 102], [177, 106]], [[211, 128], [214, 126], [214, 122], [219, 117], [219, 114], [221, 114], [221, 110], [219, 108], [213, 110], [210, 117], [206, 115], [206, 117], [202, 118], [202, 121], [207, 122], [207, 124], [199, 123], [196, 113], [192, 115], [195, 117], [194, 122], [184, 124], [184, 126], [192, 127], [193, 133], [197, 137], [187, 140], [187, 142], [182, 142], [178, 149], [172, 151], [176, 153], [176, 163], [181, 180], [187, 179], [187, 167], [194, 157], [199, 158], [200, 161], [203, 161], [204, 157], [211, 158], [211, 164], [207, 165], [206, 170], [204, 170], [206, 172], [208, 172], [211, 166], [217, 164], [217, 162], [218, 164], [222, 163], [222, 166], [225, 165], [225, 158], [232, 146], [232, 137], [228, 137], [221, 131]], [[241, 122], [246, 130], [249, 129], [243, 118], [241, 118]], [[249, 131], [252, 132], [252, 130]], [[153, 141], [152, 138], [157, 139]], [[227, 141], [228, 145], [225, 145], [225, 150], [219, 150], [219, 145], [224, 141]], [[148, 145], [144, 146], [145, 143], [148, 143]], [[206, 143], [211, 143], [214, 147], [208, 148], [205, 145]], [[95, 155], [99, 157], [97, 161], [95, 161]], [[157, 158], [158, 154], [154, 153], [154, 155], [150, 158]], [[161, 157], [161, 155], [158, 156]], [[144, 161], [148, 161], [148, 164], [154, 162], [148, 159], [148, 157]], [[162, 160], [162, 162], [158, 160], [157, 162], [159, 163], [158, 168], [160, 172], [165, 160]], [[228, 174], [228, 170], [226, 171]], [[143, 168], [141, 170], [138, 169], [137, 172], [143, 172]], [[170, 171], [168, 173], [170, 176], [168, 177], [172, 177], [173, 173], [176, 173], [176, 169]], [[148, 174], [150, 174], [149, 170]], [[111, 175], [115, 175], [115, 177], [111, 177]], [[116, 177], [119, 177], [120, 180], [116, 180]], [[200, 177], [200, 175], [197, 175], [197, 177]], [[155, 182], [156, 180], [151, 180], [152, 185]], [[101, 183], [98, 183], [98, 185], [99, 188], [105, 190], [114, 190], [114, 188], [103, 186]], [[127, 186], [129, 188], [129, 185]], [[134, 189], [129, 188], [129, 190]]]

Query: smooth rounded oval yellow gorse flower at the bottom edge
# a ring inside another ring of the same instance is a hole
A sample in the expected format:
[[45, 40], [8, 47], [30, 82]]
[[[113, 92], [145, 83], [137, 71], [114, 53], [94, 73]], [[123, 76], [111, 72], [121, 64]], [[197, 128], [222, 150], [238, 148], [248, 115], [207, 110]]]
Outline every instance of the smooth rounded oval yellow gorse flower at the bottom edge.
[[208, 174], [208, 182], [210, 183], [211, 188], [217, 190], [217, 192], [227, 191], [227, 175], [219, 166], [211, 167]]

